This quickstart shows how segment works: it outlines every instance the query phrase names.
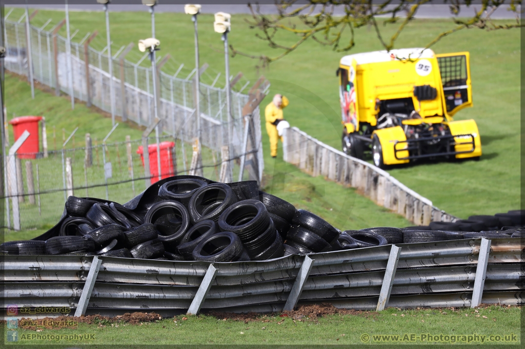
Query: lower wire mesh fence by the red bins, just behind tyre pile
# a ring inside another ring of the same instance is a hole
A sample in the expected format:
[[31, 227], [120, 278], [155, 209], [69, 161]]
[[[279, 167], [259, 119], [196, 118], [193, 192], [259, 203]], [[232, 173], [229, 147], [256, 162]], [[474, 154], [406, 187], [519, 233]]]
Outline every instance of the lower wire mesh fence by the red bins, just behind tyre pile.
[[[6, 226], [14, 226], [14, 200], [18, 202], [20, 230], [30, 230], [54, 226], [64, 211], [69, 195], [125, 203], [159, 180], [159, 173], [161, 178], [198, 173], [215, 181], [220, 180], [220, 168], [226, 161], [218, 152], [201, 148], [201, 160], [192, 167], [191, 147], [186, 145], [184, 148], [183, 142], [171, 135], [160, 137], [160, 141], [159, 172], [155, 140], [149, 139], [151, 175], [148, 178], [144, 171], [142, 140], [102, 144], [100, 140], [92, 139], [91, 147], [50, 150], [47, 157], [41, 152], [16, 154], [16, 168], [9, 178], [16, 178], [12, 185], [17, 186], [18, 194], [6, 195], [4, 193], [9, 191], [3, 191], [0, 198], [8, 201], [4, 204]], [[248, 150], [247, 155], [251, 152], [253, 150]], [[238, 164], [242, 155], [227, 160]], [[238, 176], [239, 166], [233, 168], [233, 178], [237, 180]], [[245, 172], [243, 179], [247, 180], [249, 176]]]

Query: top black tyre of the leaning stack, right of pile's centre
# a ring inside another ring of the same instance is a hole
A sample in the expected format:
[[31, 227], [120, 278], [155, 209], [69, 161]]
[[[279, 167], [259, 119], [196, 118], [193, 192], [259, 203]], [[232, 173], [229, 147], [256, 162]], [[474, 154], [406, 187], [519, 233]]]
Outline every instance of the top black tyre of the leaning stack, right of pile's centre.
[[237, 234], [240, 241], [252, 241], [270, 224], [270, 216], [262, 202], [243, 200], [229, 206], [219, 217], [218, 226], [223, 232]]

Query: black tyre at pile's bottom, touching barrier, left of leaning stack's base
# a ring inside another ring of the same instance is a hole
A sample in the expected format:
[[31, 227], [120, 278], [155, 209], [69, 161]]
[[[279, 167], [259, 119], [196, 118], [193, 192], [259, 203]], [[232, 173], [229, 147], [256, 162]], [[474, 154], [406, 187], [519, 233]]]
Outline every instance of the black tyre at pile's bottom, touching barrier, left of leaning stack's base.
[[194, 260], [234, 261], [243, 254], [243, 244], [232, 232], [217, 233], [207, 237], [193, 250]]

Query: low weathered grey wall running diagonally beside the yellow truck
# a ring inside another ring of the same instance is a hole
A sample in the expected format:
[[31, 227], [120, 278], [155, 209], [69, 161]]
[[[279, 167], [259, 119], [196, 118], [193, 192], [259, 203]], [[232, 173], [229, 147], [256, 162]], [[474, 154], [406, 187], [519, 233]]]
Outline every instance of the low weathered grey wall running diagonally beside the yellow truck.
[[397, 212], [416, 225], [455, 222], [457, 217], [441, 211], [386, 171], [351, 157], [310, 137], [297, 127], [283, 134], [283, 159], [311, 176], [324, 176], [345, 186], [357, 188], [376, 204]]

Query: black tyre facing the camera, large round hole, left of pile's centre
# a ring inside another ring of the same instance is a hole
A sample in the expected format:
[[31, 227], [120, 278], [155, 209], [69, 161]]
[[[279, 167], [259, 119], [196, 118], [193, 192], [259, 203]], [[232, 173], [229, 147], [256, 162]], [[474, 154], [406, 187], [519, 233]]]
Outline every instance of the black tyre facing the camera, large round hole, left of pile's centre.
[[164, 200], [151, 206], [144, 223], [156, 224], [161, 233], [159, 240], [166, 247], [175, 249], [190, 226], [190, 215], [180, 202]]

